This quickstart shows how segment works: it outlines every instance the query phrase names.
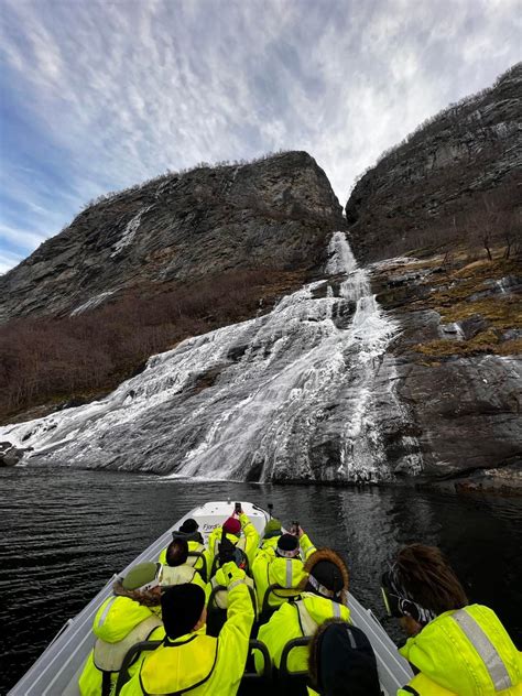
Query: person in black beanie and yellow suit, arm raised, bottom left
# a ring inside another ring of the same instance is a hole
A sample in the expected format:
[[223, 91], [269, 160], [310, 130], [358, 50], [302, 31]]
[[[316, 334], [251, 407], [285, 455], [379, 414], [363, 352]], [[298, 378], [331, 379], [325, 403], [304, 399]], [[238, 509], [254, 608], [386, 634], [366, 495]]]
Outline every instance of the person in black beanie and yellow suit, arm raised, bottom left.
[[244, 572], [222, 566], [228, 615], [219, 637], [205, 635], [205, 592], [197, 585], [176, 585], [162, 596], [166, 638], [121, 689], [121, 696], [177, 694], [235, 696], [247, 662], [253, 608]]

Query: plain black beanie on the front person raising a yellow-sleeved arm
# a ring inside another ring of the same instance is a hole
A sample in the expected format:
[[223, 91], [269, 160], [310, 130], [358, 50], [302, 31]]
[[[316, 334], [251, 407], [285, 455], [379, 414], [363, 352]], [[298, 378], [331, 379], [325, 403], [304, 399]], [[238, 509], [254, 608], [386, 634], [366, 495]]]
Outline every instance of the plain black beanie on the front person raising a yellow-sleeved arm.
[[167, 637], [174, 639], [189, 633], [198, 622], [204, 606], [205, 590], [199, 585], [186, 583], [165, 590], [161, 596], [161, 611]]

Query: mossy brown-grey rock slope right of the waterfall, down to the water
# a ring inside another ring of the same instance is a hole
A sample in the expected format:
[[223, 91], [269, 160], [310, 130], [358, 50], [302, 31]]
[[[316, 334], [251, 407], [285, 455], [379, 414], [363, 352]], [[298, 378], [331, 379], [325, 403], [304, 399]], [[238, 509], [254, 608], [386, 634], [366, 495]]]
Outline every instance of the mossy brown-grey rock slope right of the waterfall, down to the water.
[[[442, 257], [402, 259], [372, 267], [373, 291], [401, 327], [387, 361], [394, 360], [398, 401], [415, 426], [422, 477], [505, 468], [498, 490], [509, 488], [510, 472], [513, 488], [520, 489], [519, 283], [500, 283], [510, 265], [505, 260], [465, 269], [456, 263], [443, 273], [441, 262]], [[487, 286], [489, 294], [476, 293], [476, 286]]]

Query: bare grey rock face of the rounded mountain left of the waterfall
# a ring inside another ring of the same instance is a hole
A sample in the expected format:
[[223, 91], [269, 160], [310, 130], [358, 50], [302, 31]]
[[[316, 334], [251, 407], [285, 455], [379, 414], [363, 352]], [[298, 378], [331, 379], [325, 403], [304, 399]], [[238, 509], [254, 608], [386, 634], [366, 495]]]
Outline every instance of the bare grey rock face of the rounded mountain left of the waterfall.
[[0, 322], [78, 313], [137, 284], [313, 269], [341, 213], [305, 152], [167, 175], [91, 205], [0, 276]]

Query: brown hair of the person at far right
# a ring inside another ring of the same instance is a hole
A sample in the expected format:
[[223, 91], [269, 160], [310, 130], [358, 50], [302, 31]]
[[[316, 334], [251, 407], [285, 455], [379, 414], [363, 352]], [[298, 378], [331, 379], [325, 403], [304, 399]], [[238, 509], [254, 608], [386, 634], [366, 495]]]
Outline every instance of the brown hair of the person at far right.
[[437, 616], [468, 603], [452, 566], [436, 546], [404, 546], [399, 552], [393, 570], [409, 596]]

